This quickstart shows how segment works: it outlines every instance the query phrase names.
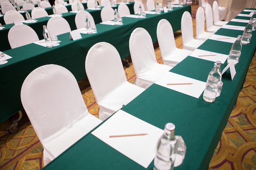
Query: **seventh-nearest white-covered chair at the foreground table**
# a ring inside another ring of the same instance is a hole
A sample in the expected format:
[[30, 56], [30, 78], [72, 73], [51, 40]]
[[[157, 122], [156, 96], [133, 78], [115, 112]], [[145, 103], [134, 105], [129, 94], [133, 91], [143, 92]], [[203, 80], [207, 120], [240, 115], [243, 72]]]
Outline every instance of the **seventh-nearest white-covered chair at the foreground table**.
[[215, 33], [220, 29], [221, 26], [213, 25], [213, 13], [211, 9], [211, 5], [207, 4], [205, 8], [205, 22], [206, 22], [206, 31]]

